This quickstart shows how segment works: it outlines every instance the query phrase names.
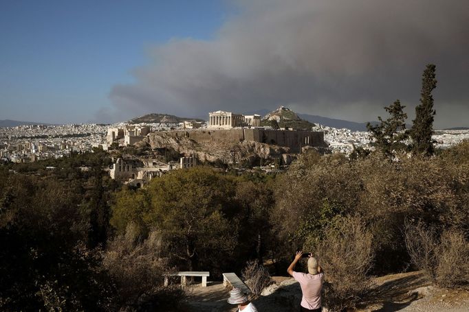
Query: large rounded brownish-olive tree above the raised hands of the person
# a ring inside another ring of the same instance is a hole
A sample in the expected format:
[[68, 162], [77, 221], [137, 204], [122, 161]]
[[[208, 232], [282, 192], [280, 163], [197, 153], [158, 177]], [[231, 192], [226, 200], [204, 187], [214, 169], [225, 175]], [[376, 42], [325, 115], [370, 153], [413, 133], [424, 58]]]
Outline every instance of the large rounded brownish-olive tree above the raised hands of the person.
[[[276, 180], [272, 221], [281, 237], [290, 239], [292, 229], [298, 228], [298, 224], [324, 219], [321, 208], [325, 201], [343, 214], [353, 213], [359, 203], [362, 181], [353, 164], [339, 154], [312, 156], [311, 162], [309, 156], [303, 156]], [[317, 228], [316, 224], [314, 227]], [[291, 245], [303, 244], [306, 237], [301, 236]], [[294, 250], [295, 247], [287, 250], [285, 256]]]

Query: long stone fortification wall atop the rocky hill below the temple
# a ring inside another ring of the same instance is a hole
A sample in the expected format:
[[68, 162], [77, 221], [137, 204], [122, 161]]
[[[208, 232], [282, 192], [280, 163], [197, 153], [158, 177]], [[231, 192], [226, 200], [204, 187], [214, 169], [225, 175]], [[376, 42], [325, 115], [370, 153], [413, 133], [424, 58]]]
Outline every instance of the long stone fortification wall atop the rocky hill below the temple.
[[196, 142], [239, 143], [254, 141], [289, 147], [292, 153], [301, 152], [301, 147], [325, 147], [324, 132], [306, 130], [264, 130], [264, 129], [230, 129], [230, 130], [174, 130], [166, 132], [168, 136], [185, 136]]

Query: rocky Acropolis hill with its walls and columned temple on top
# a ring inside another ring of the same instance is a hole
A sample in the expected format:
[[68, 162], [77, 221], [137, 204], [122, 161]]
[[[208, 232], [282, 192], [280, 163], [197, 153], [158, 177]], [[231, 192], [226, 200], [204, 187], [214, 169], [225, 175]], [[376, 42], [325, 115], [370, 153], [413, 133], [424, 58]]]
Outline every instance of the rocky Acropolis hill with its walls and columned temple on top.
[[274, 130], [260, 127], [260, 124], [259, 115], [244, 116], [219, 110], [210, 112], [204, 128], [183, 123], [182, 130], [151, 132], [138, 145], [149, 144], [153, 149], [171, 147], [186, 156], [196, 155], [201, 161], [254, 163], [260, 158], [281, 158], [284, 164], [289, 164], [294, 154], [304, 149], [327, 147], [324, 132]]

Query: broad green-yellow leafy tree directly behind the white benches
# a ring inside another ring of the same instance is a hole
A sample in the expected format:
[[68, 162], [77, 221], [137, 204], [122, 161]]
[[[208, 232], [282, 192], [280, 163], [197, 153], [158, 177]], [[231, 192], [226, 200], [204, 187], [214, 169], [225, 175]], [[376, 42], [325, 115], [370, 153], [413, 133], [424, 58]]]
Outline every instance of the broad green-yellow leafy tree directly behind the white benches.
[[149, 185], [149, 227], [157, 228], [173, 263], [217, 269], [237, 243], [234, 180], [204, 167], [176, 170]]

